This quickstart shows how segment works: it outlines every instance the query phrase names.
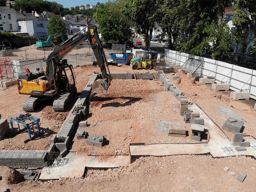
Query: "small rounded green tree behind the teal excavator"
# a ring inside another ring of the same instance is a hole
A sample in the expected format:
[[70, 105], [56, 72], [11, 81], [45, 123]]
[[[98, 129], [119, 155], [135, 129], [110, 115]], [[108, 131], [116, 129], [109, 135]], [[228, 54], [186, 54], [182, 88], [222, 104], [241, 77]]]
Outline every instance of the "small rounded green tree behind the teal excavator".
[[66, 24], [61, 20], [60, 15], [54, 15], [49, 20], [47, 25], [48, 28], [48, 36], [56, 33], [63, 33], [65, 38], [67, 39], [67, 30]]

